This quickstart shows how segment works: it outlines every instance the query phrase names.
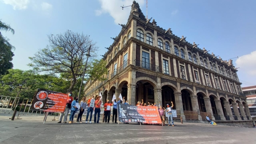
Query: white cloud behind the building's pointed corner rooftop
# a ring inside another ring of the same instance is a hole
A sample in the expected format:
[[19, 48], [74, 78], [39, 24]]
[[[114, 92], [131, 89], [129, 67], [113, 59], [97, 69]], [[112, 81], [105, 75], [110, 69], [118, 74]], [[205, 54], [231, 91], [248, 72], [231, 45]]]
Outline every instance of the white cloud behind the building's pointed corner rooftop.
[[[96, 10], [97, 16], [102, 13], [108, 13], [114, 18], [116, 24], [126, 24], [128, 16], [130, 15], [132, 2], [134, 0], [99, 0], [101, 9]], [[136, 0], [140, 5], [140, 8], [144, 6], [145, 0]], [[128, 6], [122, 10], [121, 6]], [[145, 14], [144, 14], [145, 15]]]

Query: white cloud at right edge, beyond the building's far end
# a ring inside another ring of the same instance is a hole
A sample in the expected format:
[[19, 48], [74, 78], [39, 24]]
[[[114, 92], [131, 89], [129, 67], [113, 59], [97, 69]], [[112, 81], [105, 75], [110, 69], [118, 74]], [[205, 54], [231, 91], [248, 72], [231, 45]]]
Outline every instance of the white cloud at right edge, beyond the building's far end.
[[256, 76], [256, 51], [243, 55], [236, 60], [236, 67], [239, 72], [247, 74], [247, 76]]

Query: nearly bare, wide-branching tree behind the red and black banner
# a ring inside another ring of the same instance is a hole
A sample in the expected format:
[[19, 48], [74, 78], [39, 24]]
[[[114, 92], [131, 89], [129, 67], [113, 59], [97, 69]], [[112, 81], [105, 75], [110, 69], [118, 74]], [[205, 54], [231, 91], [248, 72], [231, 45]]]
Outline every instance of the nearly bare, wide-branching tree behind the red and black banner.
[[[72, 91], [77, 78], [82, 76], [86, 61], [86, 53], [91, 46], [91, 57], [88, 65], [92, 66], [94, 58], [96, 58], [96, 43], [90, 40], [89, 36], [78, 34], [67, 30], [64, 34], [48, 35], [49, 45], [44, 49], [40, 49], [34, 57], [30, 57], [32, 63], [28, 64], [38, 72], [46, 72], [48, 74], [63, 74], [71, 77], [71, 85], [67, 92]], [[105, 68], [105, 66], [104, 66]], [[91, 68], [90, 70], [93, 70]], [[103, 70], [102, 72], [105, 72]], [[99, 78], [105, 73], [98, 72], [91, 77]], [[87, 74], [89, 74], [89, 70]], [[94, 74], [94, 73], [93, 73]]]

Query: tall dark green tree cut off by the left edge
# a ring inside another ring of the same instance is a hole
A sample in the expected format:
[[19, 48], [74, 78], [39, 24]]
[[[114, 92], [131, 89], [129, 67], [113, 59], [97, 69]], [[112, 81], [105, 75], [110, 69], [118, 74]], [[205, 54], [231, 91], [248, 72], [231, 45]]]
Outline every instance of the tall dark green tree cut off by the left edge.
[[[0, 19], [0, 31], [10, 31], [14, 34], [14, 29], [10, 25], [4, 23]], [[15, 47], [12, 46], [9, 42], [9, 39], [4, 37], [0, 32], [0, 76], [6, 74], [8, 69], [13, 67], [12, 57], [14, 56], [12, 49]]]

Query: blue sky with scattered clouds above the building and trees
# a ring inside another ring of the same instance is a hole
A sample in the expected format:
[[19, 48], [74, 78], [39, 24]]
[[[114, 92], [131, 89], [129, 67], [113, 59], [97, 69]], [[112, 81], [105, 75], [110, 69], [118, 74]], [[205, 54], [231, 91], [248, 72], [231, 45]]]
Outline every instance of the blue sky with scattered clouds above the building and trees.
[[[130, 14], [133, 0], [0, 0], [0, 19], [15, 34], [3, 32], [16, 47], [14, 68], [28, 70], [29, 56], [48, 44], [48, 34], [66, 30], [90, 35], [100, 47], [112, 44]], [[146, 16], [146, 0], [136, 0]], [[255, 0], [148, 0], [148, 18], [172, 28], [173, 34], [187, 37], [223, 60], [233, 59], [242, 86], [256, 85]]]

